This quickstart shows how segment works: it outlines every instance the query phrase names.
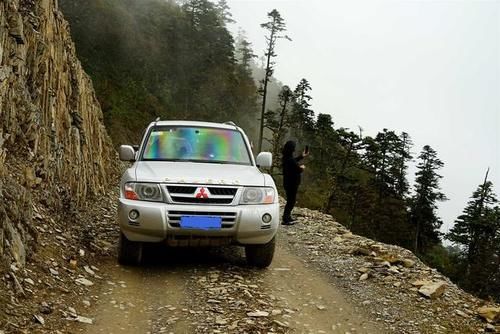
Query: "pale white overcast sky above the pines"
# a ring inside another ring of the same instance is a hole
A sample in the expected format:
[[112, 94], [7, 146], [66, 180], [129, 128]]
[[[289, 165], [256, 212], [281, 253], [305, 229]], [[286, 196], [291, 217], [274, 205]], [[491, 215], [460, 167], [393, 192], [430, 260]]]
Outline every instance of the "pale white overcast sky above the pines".
[[[445, 163], [440, 205], [447, 231], [484, 178], [500, 189], [500, 1], [229, 0], [231, 26], [264, 52], [260, 23], [276, 8], [292, 42], [275, 76], [312, 85], [316, 114], [365, 134], [408, 132], [418, 154]], [[412, 169], [411, 173], [413, 174]], [[411, 176], [413, 179], [413, 175]]]

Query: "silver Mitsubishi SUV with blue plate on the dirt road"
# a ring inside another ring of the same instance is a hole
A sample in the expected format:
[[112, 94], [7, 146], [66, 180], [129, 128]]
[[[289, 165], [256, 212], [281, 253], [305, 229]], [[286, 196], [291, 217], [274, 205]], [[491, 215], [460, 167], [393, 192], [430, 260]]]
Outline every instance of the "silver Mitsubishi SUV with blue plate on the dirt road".
[[245, 247], [247, 262], [271, 264], [279, 225], [273, 179], [259, 170], [247, 136], [233, 123], [151, 123], [138, 148], [122, 145], [133, 162], [122, 176], [118, 260], [139, 264], [143, 244]]

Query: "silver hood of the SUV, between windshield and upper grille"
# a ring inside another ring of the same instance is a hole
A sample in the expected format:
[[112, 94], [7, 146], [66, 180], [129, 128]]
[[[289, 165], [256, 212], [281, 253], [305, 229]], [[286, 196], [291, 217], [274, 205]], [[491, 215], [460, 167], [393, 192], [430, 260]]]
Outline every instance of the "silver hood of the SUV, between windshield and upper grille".
[[265, 178], [255, 166], [215, 163], [138, 161], [137, 182], [264, 186]]

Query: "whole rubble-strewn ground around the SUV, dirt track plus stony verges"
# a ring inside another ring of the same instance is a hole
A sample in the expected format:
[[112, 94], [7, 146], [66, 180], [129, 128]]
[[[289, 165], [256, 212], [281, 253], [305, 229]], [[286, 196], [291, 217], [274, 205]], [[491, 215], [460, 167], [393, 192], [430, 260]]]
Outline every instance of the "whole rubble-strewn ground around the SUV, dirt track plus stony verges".
[[[153, 247], [141, 267], [118, 266], [113, 203], [97, 218], [73, 218], [82, 224], [41, 215], [44, 247], [26, 268], [12, 266], [0, 280], [9, 296], [0, 293], [0, 334], [489, 330], [476, 313], [484, 301], [409, 251], [353, 235], [308, 209], [297, 210], [298, 224], [281, 229], [266, 270], [249, 268], [238, 247]], [[426, 298], [415, 287], [419, 280], [447, 288]]]

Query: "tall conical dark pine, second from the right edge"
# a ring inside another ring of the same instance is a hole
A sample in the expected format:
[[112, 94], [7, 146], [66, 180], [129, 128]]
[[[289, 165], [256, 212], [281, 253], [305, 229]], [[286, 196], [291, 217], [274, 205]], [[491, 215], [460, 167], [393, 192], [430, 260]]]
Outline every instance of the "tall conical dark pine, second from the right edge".
[[415, 228], [414, 251], [422, 253], [433, 245], [439, 244], [442, 225], [437, 216], [437, 202], [446, 200], [440, 191], [438, 174], [444, 164], [429, 145], [423, 147], [415, 179], [415, 194], [412, 198], [410, 221]]

